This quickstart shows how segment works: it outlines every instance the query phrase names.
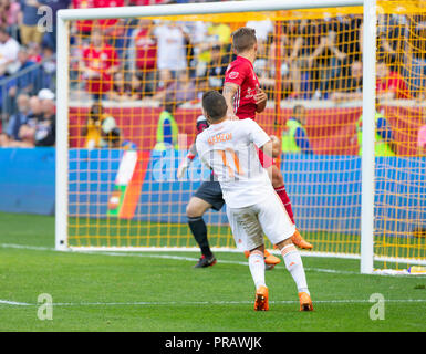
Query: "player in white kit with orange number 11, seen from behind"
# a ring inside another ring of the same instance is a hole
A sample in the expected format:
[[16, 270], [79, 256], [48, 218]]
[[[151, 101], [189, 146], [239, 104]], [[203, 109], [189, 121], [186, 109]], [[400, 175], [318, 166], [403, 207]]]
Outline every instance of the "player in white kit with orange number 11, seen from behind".
[[236, 244], [250, 251], [249, 268], [256, 287], [254, 310], [269, 310], [264, 282], [263, 232], [280, 249], [299, 292], [300, 310], [312, 311], [304, 268], [291, 237], [294, 223], [277, 196], [262, 167], [256, 146], [272, 156], [273, 142], [252, 119], [227, 117], [224, 96], [210, 91], [202, 96], [202, 111], [210, 127], [200, 133], [196, 146], [201, 162], [220, 183]]

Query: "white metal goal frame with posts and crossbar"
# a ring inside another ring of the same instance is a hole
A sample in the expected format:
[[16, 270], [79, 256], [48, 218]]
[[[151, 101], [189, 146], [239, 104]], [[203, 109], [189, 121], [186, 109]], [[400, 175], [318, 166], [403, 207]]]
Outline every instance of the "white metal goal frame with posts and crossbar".
[[[73, 250], [67, 246], [69, 211], [69, 21], [95, 19], [127, 19], [156, 15], [191, 15], [206, 13], [233, 13], [280, 11], [335, 7], [364, 7], [363, 33], [363, 139], [362, 139], [362, 214], [361, 256], [309, 252], [316, 257], [361, 259], [361, 273], [372, 273], [374, 262], [374, 143], [375, 143], [375, 33], [377, 25], [376, 0], [266, 0], [229, 1], [185, 4], [142, 6], [122, 8], [66, 9], [56, 13], [56, 156], [55, 156], [55, 249]], [[84, 251], [164, 251], [170, 248], [98, 248], [79, 247]], [[191, 249], [173, 248], [188, 251]], [[221, 251], [235, 251], [220, 248]], [[413, 262], [413, 261], [411, 261]]]

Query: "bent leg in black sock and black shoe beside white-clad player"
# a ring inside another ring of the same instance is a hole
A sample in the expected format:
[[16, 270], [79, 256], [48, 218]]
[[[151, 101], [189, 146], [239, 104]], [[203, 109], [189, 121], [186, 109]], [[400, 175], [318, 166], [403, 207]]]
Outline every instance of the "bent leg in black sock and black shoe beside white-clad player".
[[186, 207], [189, 229], [201, 251], [201, 258], [195, 268], [205, 268], [216, 263], [216, 258], [210, 250], [207, 238], [206, 222], [202, 218], [204, 214], [210, 208], [211, 205], [209, 202], [198, 197], [193, 197]]

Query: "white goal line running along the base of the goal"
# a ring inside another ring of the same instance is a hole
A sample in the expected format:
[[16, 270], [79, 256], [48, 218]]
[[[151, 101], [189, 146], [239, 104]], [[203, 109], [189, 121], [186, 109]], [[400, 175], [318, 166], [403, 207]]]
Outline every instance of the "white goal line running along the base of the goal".
[[[48, 247], [39, 247], [39, 246], [25, 246], [25, 244], [13, 244], [13, 243], [0, 243], [0, 247], [2, 248], [14, 248], [14, 249], [25, 249], [25, 250], [34, 250], [34, 251], [54, 251], [54, 252], [70, 252], [70, 251], [56, 251], [54, 248], [48, 248]], [[73, 250], [71, 253], [85, 253], [85, 254], [102, 254], [102, 256], [110, 256], [110, 257], [141, 257], [141, 258], [156, 258], [156, 259], [173, 259], [173, 260], [180, 260], [180, 261], [189, 261], [189, 262], [196, 262], [198, 261], [198, 258], [191, 258], [191, 257], [183, 257], [183, 256], [172, 256], [172, 254], [155, 254], [155, 253], [145, 253], [145, 252], [113, 252], [113, 251], [89, 251], [89, 250]], [[218, 260], [218, 263], [224, 264], [238, 264], [238, 266], [248, 266], [248, 262], [246, 261], [231, 261], [231, 260]], [[334, 274], [353, 274], [353, 275], [387, 275], [391, 274], [382, 274], [382, 273], [373, 273], [373, 274], [361, 274], [360, 272], [354, 271], [347, 271], [347, 270], [336, 270], [336, 269], [325, 269], [325, 268], [304, 268], [305, 271], [311, 272], [321, 272], [321, 273], [334, 273]], [[413, 277], [407, 274], [393, 274], [392, 277]], [[423, 278], [426, 275], [418, 274], [416, 278]]]

